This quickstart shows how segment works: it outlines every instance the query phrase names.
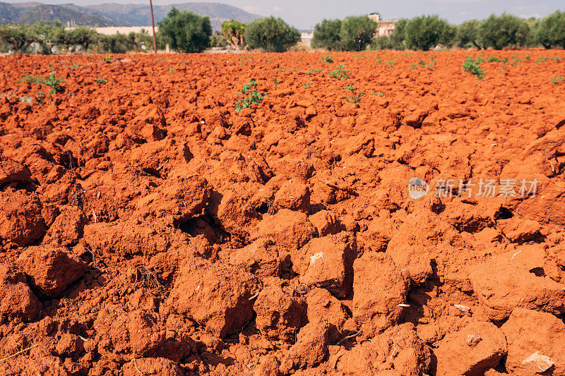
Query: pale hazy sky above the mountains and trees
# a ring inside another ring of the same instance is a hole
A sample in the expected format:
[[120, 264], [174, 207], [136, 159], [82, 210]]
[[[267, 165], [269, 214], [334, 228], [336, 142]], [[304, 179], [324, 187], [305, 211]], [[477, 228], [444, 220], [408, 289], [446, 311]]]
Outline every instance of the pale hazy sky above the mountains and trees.
[[[18, 2], [13, 0], [3, 1]], [[188, 1], [154, 0], [153, 4], [166, 5]], [[40, 2], [47, 4], [74, 3], [77, 5], [105, 2], [148, 4], [149, 0], [40, 0]], [[223, 2], [261, 16], [279, 16], [300, 29], [314, 28], [314, 25], [323, 18], [344, 18], [345, 16], [375, 11], [381, 13], [384, 18], [410, 18], [424, 13], [439, 14], [451, 23], [460, 23], [471, 18], [486, 18], [491, 13], [499, 14], [504, 11], [524, 18], [547, 16], [547, 14], [559, 8], [565, 11], [564, 0], [214, 0], [206, 2]]]

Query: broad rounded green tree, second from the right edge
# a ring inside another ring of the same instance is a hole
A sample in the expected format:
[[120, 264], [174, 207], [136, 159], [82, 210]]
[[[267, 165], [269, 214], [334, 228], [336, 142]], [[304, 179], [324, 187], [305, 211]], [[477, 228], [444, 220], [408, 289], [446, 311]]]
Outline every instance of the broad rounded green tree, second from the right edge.
[[503, 49], [504, 47], [518, 47], [525, 44], [528, 40], [530, 27], [525, 20], [503, 13], [501, 16], [492, 14], [482, 21], [479, 30], [484, 47]]

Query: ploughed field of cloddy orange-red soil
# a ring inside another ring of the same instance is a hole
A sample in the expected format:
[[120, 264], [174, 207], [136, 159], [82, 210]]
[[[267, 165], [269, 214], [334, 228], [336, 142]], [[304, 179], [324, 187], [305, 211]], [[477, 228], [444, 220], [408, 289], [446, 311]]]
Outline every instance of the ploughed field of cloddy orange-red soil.
[[0, 375], [565, 375], [565, 51], [324, 55], [2, 57]]

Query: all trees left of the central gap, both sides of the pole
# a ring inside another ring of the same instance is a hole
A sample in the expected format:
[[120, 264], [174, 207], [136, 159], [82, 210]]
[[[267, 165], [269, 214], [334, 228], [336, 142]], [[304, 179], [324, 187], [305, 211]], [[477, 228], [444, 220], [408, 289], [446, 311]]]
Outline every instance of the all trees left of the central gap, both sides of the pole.
[[[172, 8], [159, 24], [157, 47], [168, 45], [182, 52], [201, 52], [209, 47], [230, 44], [234, 49], [262, 49], [286, 51], [300, 40], [300, 33], [281, 18], [260, 18], [249, 25], [229, 20], [222, 23], [221, 32], [213, 32], [208, 17], [190, 11]], [[83, 49], [114, 54], [143, 51], [153, 45], [148, 32], [128, 35], [101, 35], [93, 28], [80, 27], [66, 30], [58, 21], [33, 25], [0, 25], [0, 51], [16, 50], [52, 54], [58, 51]]]

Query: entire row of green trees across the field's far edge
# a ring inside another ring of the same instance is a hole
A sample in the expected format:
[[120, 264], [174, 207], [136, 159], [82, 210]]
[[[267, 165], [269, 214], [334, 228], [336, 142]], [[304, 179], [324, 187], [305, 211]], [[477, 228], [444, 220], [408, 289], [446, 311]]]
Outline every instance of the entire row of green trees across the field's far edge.
[[[323, 20], [316, 25], [312, 47], [335, 51], [363, 49], [422, 49], [436, 46], [485, 49], [506, 47], [565, 48], [565, 12], [556, 11], [541, 20], [523, 20], [511, 14], [492, 15], [486, 20], [468, 20], [450, 25], [438, 16], [401, 19], [392, 35], [375, 36], [377, 23], [367, 16], [344, 20]], [[183, 52], [201, 52], [208, 47], [230, 44], [234, 49], [261, 49], [282, 52], [300, 40], [300, 33], [281, 18], [254, 20], [249, 25], [229, 20], [222, 31], [213, 33], [210, 19], [190, 11], [172, 8], [159, 23], [157, 44]], [[66, 30], [58, 21], [34, 25], [0, 25], [0, 51], [15, 49], [51, 54], [61, 49], [95, 49], [99, 52], [124, 53], [150, 49], [148, 32], [128, 35], [100, 35], [93, 28]]]

